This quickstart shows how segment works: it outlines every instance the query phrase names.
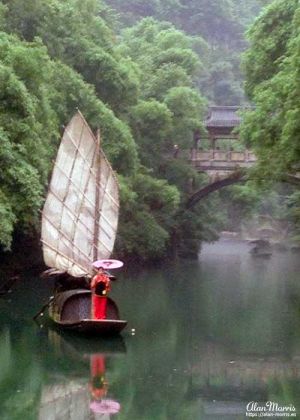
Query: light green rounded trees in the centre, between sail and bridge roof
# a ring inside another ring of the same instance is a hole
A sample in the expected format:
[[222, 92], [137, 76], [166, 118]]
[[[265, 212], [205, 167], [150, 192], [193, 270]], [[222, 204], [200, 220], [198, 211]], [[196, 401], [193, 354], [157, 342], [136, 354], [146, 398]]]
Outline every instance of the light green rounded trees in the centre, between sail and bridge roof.
[[172, 147], [189, 149], [193, 132], [202, 129], [205, 101], [193, 80], [202, 70], [193, 51], [195, 38], [169, 23], [143, 19], [122, 34], [120, 48], [140, 67], [140, 101], [130, 110], [130, 125], [142, 163], [158, 169]]

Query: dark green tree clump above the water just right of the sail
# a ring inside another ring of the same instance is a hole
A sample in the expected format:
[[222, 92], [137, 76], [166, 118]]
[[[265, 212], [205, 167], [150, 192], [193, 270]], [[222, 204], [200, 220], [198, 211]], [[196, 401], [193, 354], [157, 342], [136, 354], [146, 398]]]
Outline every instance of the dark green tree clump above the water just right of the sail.
[[122, 212], [116, 252], [134, 261], [163, 258], [170, 246], [179, 192], [147, 174], [138, 174], [130, 181], [120, 179]]

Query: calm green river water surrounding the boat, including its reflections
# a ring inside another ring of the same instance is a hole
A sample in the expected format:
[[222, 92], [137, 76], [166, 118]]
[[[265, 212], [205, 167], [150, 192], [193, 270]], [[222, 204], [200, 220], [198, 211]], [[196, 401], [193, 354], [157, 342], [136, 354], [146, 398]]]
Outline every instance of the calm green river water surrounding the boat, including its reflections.
[[51, 282], [25, 276], [0, 300], [0, 418], [244, 419], [267, 401], [299, 417], [300, 258], [248, 251], [222, 241], [198, 261], [125, 270], [119, 339], [35, 324]]

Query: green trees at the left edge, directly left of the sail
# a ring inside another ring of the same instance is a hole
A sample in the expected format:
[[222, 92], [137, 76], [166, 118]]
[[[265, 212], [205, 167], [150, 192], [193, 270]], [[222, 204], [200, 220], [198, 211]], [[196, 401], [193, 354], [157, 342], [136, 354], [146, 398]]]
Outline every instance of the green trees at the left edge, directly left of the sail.
[[23, 230], [38, 223], [55, 116], [46, 49], [0, 33], [0, 51], [0, 243], [9, 248], [16, 223]]

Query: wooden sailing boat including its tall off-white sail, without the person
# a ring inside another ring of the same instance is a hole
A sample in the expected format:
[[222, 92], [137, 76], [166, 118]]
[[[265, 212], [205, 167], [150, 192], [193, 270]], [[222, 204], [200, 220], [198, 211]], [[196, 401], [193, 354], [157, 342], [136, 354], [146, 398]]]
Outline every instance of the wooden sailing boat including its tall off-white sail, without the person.
[[119, 333], [126, 325], [109, 298], [106, 319], [91, 319], [92, 263], [110, 257], [118, 225], [117, 178], [78, 111], [67, 125], [54, 163], [42, 213], [46, 275], [59, 287], [49, 303], [60, 327], [94, 334]]

